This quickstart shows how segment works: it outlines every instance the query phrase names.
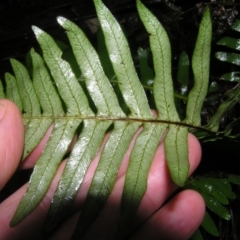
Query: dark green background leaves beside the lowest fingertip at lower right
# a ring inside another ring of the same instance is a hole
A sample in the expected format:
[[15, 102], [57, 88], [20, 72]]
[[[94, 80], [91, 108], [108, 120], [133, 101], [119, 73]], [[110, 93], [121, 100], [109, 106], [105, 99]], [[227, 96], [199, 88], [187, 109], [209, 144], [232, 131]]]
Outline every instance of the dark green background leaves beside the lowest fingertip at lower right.
[[191, 240], [204, 239], [202, 231], [206, 231], [216, 237], [219, 236], [218, 228], [209, 211], [222, 219], [231, 220], [232, 215], [227, 206], [229, 201], [236, 199], [232, 184], [240, 184], [239, 175], [230, 174], [225, 177], [195, 176], [189, 178], [185, 188], [199, 192], [207, 206], [201, 228], [195, 232]]

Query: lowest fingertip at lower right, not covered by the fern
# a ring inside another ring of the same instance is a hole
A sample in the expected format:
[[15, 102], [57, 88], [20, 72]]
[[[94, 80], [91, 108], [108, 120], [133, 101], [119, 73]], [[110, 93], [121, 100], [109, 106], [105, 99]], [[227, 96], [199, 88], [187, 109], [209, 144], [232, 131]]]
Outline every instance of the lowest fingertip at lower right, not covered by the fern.
[[202, 196], [193, 190], [182, 191], [151, 216], [130, 239], [189, 239], [201, 224], [204, 213]]

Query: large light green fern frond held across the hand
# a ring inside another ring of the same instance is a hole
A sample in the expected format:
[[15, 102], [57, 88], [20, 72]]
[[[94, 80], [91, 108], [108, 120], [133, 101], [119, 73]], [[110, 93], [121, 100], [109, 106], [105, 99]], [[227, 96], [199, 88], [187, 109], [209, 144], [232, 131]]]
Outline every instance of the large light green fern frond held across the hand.
[[[94, 0], [94, 3], [129, 113], [122, 110], [95, 49], [81, 29], [63, 17], [57, 19], [67, 32], [88, 96], [70, 64], [61, 58], [62, 52], [52, 37], [34, 26], [43, 58], [31, 49], [32, 79], [26, 68], [14, 59], [11, 64], [15, 76], [6, 73], [6, 97], [12, 99], [23, 112], [26, 126], [23, 159], [38, 145], [51, 125], [53, 130], [34, 167], [28, 190], [11, 226], [18, 224], [40, 203], [75, 135], [77, 141], [70, 152], [45, 223], [47, 232], [64, 219], [107, 132], [109, 137], [80, 214], [78, 227], [81, 234], [86, 232], [107, 201], [124, 154], [140, 127], [142, 131], [132, 149], [126, 174], [120, 222], [126, 224], [136, 212], [146, 190], [152, 159], [164, 135], [166, 158], [173, 181], [183, 186], [187, 178], [188, 126], [201, 126], [200, 113], [208, 88], [211, 44], [209, 9], [206, 8], [200, 24], [192, 58], [195, 82], [188, 96], [186, 119], [181, 121], [174, 104], [170, 43], [162, 25], [137, 0], [138, 13], [149, 33], [153, 55], [153, 94], [158, 112], [154, 116], [120, 25], [102, 1]], [[89, 104], [89, 96], [94, 109]]]

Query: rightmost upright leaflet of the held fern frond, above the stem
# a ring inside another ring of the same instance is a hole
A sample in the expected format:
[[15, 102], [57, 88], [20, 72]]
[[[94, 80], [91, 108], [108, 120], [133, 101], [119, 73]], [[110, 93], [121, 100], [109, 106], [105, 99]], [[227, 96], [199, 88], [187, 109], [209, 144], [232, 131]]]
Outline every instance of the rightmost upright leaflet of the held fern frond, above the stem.
[[206, 7], [192, 57], [194, 85], [188, 96], [185, 122], [201, 125], [201, 109], [208, 91], [212, 24]]

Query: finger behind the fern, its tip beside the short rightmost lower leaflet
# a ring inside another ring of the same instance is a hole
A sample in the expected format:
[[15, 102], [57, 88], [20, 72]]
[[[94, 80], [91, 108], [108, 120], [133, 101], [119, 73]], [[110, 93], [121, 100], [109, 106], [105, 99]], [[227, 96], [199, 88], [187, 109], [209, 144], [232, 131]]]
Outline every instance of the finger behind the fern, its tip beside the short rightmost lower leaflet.
[[[191, 134], [189, 134], [188, 144], [190, 175], [197, 168], [200, 162], [201, 148], [198, 140]], [[127, 164], [126, 159], [123, 160], [123, 163]], [[106, 236], [113, 237], [112, 235], [114, 235], [114, 231], [117, 229], [117, 222], [120, 217], [119, 212], [121, 206], [121, 195], [124, 186], [124, 178], [125, 176], [122, 175], [117, 180], [114, 189], [107, 201], [107, 204], [101, 211], [97, 221], [94, 222], [91, 229], [87, 233], [87, 239], [97, 238], [100, 240], [104, 239]], [[129, 226], [129, 229], [135, 229], [139, 224], [149, 218], [149, 216], [151, 216], [165, 203], [165, 201], [176, 189], [177, 186], [171, 180], [165, 161], [164, 144], [160, 144], [150, 168], [147, 190], [137, 211], [136, 221], [134, 224]], [[83, 197], [82, 195], [80, 196]], [[79, 197], [79, 195], [77, 197]], [[125, 236], [128, 234], [129, 232], [117, 233], [119, 239], [125, 239]], [[100, 236], [104, 237], [100, 238]]]

